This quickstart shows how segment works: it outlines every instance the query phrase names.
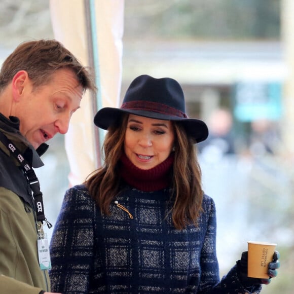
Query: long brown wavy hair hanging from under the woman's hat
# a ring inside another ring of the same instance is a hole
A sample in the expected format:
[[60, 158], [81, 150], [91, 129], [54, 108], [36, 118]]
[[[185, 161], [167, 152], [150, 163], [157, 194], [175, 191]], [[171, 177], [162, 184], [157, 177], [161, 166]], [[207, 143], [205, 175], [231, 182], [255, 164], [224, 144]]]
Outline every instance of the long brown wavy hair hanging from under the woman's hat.
[[[103, 150], [103, 166], [87, 178], [85, 185], [101, 212], [109, 215], [109, 206], [120, 193], [118, 162], [124, 148], [124, 138], [128, 115], [108, 128]], [[201, 170], [196, 156], [195, 141], [188, 137], [185, 128], [173, 122], [175, 130], [175, 157], [173, 165], [173, 199], [169, 211], [172, 213], [176, 229], [184, 229], [188, 224], [197, 226], [203, 198]]]

